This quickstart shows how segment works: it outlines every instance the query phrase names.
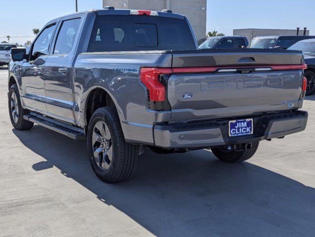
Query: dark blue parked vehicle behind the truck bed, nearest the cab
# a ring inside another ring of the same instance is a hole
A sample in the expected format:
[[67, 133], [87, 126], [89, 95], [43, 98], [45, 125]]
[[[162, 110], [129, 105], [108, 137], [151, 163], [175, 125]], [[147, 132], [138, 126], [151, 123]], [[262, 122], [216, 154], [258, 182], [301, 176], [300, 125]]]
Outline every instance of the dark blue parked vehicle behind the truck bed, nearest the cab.
[[199, 49], [241, 48], [247, 47], [247, 45], [248, 40], [243, 36], [216, 36], [206, 38], [203, 43], [199, 44]]

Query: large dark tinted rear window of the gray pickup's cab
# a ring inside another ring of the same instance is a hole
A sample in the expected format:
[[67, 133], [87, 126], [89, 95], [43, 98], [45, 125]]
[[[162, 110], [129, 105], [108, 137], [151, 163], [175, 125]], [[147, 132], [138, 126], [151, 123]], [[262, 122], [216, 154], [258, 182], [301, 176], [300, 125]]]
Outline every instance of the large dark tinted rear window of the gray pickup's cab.
[[102, 15], [95, 19], [88, 52], [191, 49], [196, 46], [183, 19]]

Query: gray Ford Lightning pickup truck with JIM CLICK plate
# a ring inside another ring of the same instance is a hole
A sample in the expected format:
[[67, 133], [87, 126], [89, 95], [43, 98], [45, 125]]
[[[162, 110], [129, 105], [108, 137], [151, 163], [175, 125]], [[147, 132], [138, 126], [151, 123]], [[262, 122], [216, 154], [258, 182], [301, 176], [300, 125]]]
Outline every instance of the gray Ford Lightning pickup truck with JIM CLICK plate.
[[198, 50], [186, 17], [171, 11], [107, 7], [60, 17], [11, 58], [14, 128], [37, 123], [87, 138], [92, 169], [108, 183], [130, 178], [145, 147], [211, 149], [239, 162], [259, 141], [307, 124], [301, 51]]

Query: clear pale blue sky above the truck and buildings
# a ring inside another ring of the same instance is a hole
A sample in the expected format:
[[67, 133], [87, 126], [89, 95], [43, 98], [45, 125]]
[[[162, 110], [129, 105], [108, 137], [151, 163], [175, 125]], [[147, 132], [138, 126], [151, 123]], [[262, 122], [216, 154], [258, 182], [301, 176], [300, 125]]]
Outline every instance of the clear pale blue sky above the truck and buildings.
[[[102, 0], [78, 0], [78, 8], [102, 8]], [[314, 9], [315, 0], [207, 0], [207, 31], [232, 35], [241, 28], [308, 27], [313, 35]], [[10, 42], [24, 44], [34, 39], [33, 28], [74, 11], [75, 0], [0, 0], [0, 42], [9, 35]]]

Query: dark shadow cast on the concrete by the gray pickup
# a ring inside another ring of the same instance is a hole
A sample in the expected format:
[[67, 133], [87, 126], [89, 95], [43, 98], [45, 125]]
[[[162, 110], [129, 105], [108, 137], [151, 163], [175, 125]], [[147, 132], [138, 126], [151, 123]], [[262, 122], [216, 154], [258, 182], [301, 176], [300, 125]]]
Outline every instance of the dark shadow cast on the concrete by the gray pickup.
[[38, 125], [13, 132], [46, 159], [35, 170], [56, 166], [156, 236], [314, 236], [315, 189], [260, 166], [147, 151], [132, 180], [110, 185], [92, 172], [85, 141]]

